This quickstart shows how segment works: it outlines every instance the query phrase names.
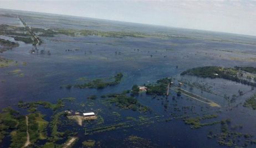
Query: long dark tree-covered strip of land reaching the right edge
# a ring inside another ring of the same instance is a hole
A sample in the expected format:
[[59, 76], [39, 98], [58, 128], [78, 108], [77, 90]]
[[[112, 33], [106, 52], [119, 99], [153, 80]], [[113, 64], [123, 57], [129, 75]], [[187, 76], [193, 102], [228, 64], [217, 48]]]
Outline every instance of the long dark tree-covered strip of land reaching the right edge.
[[[242, 73], [242, 75], [240, 73]], [[193, 75], [203, 78], [224, 78], [226, 80], [256, 86], [256, 83], [251, 82], [250, 78], [244, 77], [245, 75], [243, 75], [243, 71], [240, 71], [237, 68], [224, 68], [218, 66], [197, 67], [183, 71], [181, 73], [181, 76], [182, 75]]]

